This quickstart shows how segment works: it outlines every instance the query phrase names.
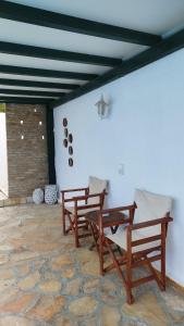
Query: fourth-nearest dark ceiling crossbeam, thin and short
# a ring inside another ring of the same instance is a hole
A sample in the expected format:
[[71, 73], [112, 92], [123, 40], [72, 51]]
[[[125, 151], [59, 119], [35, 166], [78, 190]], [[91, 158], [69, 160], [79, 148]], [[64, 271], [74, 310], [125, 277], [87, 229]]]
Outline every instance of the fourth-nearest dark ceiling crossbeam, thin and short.
[[78, 88], [78, 85], [75, 85], [75, 84], [34, 82], [34, 80], [7, 79], [7, 78], [0, 78], [0, 85], [21, 86], [21, 87], [39, 87], [39, 88], [57, 88], [57, 89], [76, 89], [76, 88]]

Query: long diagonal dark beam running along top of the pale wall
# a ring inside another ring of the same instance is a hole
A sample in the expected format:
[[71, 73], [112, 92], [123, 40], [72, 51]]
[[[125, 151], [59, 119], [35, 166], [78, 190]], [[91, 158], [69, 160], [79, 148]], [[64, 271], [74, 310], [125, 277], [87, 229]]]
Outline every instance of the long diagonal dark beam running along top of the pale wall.
[[112, 68], [105, 73], [102, 76], [87, 83], [78, 89], [65, 95], [62, 99], [52, 102], [52, 106], [57, 108], [71, 100], [74, 100], [94, 89], [97, 89], [108, 83], [111, 83], [120, 77], [123, 77], [132, 72], [135, 72], [147, 64], [150, 64], [174, 51], [184, 48], [184, 29], [162, 40], [159, 45], [145, 50], [144, 52], [135, 55], [134, 58], [125, 61], [120, 66]]

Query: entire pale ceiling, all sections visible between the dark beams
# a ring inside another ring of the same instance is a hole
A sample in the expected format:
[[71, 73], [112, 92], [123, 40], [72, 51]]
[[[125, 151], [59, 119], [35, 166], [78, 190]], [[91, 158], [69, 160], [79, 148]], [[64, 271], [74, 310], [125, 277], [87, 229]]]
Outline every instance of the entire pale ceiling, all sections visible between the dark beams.
[[[184, 26], [184, 0], [16, 0], [12, 2], [162, 36]], [[120, 58], [123, 60], [126, 60], [147, 48], [144, 46], [34, 26], [3, 18], [0, 18], [0, 41]], [[2, 53], [0, 53], [0, 64], [97, 74], [102, 74], [110, 70], [110, 67], [93, 64], [79, 64]], [[4, 77], [53, 83], [72, 83], [78, 85], [86, 83], [61, 78], [0, 74], [0, 78]], [[1, 85], [0, 88], [2, 88]], [[12, 87], [4, 86], [4, 88]], [[22, 89], [23, 87], [17, 88]]]

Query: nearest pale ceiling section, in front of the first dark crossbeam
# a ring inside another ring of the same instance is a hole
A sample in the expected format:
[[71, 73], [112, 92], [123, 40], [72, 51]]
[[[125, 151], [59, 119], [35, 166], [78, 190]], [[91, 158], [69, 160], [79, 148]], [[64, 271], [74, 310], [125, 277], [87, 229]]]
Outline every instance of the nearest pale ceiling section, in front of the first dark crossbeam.
[[116, 26], [163, 34], [184, 23], [183, 0], [15, 0]]

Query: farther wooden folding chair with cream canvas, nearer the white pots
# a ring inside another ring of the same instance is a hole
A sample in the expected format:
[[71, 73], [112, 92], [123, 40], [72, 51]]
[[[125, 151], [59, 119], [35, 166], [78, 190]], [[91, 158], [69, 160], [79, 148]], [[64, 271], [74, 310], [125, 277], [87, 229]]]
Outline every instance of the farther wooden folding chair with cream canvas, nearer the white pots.
[[[75, 247], [79, 247], [79, 238], [91, 236], [88, 229], [88, 222], [85, 214], [90, 211], [101, 210], [105, 202], [107, 181], [89, 177], [89, 186], [86, 188], [62, 190], [62, 225], [63, 235], [73, 231], [75, 237]], [[72, 192], [83, 191], [85, 195], [66, 198], [66, 195]], [[72, 205], [69, 205], [71, 204]], [[66, 220], [69, 227], [66, 227]], [[79, 234], [78, 230], [83, 229], [84, 233]]]

